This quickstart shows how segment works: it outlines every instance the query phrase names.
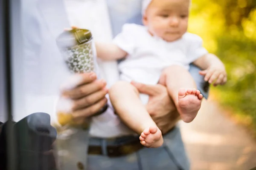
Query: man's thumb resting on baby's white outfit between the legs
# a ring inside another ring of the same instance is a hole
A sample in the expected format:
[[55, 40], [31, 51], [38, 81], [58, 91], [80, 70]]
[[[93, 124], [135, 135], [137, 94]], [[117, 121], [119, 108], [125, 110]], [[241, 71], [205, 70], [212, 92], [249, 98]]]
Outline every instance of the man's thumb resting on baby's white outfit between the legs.
[[141, 84], [134, 81], [132, 81], [131, 84], [134, 85], [140, 93], [147, 94], [147, 95], [157, 95], [162, 90], [160, 86], [156, 86], [156, 85]]

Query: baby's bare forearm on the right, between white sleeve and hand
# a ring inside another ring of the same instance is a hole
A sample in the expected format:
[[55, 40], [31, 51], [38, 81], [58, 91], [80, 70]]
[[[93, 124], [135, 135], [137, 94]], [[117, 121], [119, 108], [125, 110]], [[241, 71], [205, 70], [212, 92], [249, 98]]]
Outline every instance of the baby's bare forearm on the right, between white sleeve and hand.
[[202, 70], [208, 69], [209, 66], [212, 66], [212, 65], [224, 66], [224, 64], [216, 55], [210, 54], [210, 53], [207, 55], [204, 55], [201, 58], [198, 58], [196, 61], [193, 62], [193, 64], [195, 64], [195, 66], [198, 66]]

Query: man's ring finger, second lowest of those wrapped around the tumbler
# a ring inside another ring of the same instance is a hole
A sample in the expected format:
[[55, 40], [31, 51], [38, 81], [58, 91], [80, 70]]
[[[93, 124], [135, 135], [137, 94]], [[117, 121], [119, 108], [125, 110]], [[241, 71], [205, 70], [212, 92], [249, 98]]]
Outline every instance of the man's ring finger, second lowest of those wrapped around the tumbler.
[[108, 93], [108, 89], [102, 89], [100, 91], [97, 91], [91, 95], [88, 95], [84, 98], [78, 99], [74, 102], [73, 104], [73, 111], [76, 111], [77, 109], [82, 109], [84, 107], [91, 106], [98, 101], [102, 100], [105, 98], [105, 95]]

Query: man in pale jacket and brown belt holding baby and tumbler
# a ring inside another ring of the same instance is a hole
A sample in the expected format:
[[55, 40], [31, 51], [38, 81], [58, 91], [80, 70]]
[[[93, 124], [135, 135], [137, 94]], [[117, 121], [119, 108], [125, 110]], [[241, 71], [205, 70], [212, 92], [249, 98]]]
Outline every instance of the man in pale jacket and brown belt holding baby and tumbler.
[[[131, 11], [134, 13], [130, 13]], [[25, 110], [26, 113], [48, 112], [53, 121], [56, 121], [54, 102], [59, 95], [59, 86], [67, 81], [70, 73], [58, 51], [55, 38], [64, 28], [75, 25], [92, 30], [96, 40], [109, 41], [112, 37], [110, 22], [113, 35], [116, 35], [123, 23], [140, 20], [140, 2], [23, 0], [23, 13]], [[117, 79], [114, 78], [114, 75], [117, 75], [117, 70], [113, 69], [116, 68], [115, 63], [100, 63], [100, 67], [101, 75], [107, 78], [108, 86], [111, 86]], [[107, 102], [107, 90], [104, 88], [106, 82], [96, 81], [97, 76], [99, 78], [99, 73], [84, 74], [79, 87], [61, 94], [73, 100], [74, 119], [92, 117], [88, 153], [84, 153], [88, 154], [86, 167], [90, 170], [188, 170], [189, 161], [180, 130], [175, 127], [179, 116], [166, 88], [159, 84], [148, 86], [134, 82], [140, 92], [150, 95], [147, 110], [164, 134], [163, 147], [148, 149], [141, 147], [138, 137], [132, 135], [133, 133], [122, 124], [110, 106], [101, 115], [93, 116], [98, 114]], [[200, 83], [201, 81], [198, 81], [198, 84]]]

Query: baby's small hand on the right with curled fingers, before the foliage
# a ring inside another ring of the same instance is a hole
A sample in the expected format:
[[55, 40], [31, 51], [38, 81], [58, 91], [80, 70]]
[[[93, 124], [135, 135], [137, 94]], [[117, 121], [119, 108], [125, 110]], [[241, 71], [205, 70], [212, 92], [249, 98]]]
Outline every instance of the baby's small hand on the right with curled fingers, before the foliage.
[[199, 71], [200, 75], [204, 75], [204, 81], [208, 81], [209, 84], [213, 83], [213, 86], [224, 85], [227, 82], [227, 73], [224, 65], [210, 66], [208, 69]]

